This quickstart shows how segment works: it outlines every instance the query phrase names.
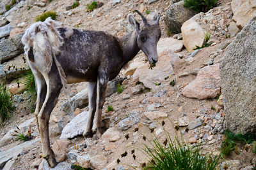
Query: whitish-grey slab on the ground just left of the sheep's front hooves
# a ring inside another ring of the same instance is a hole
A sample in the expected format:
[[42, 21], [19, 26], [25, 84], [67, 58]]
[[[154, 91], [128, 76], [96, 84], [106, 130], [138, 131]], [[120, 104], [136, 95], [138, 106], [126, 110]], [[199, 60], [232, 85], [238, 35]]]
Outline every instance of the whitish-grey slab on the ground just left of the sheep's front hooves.
[[76, 117], [74, 117], [61, 132], [60, 139], [74, 138], [83, 134], [87, 125], [89, 111], [83, 111]]

